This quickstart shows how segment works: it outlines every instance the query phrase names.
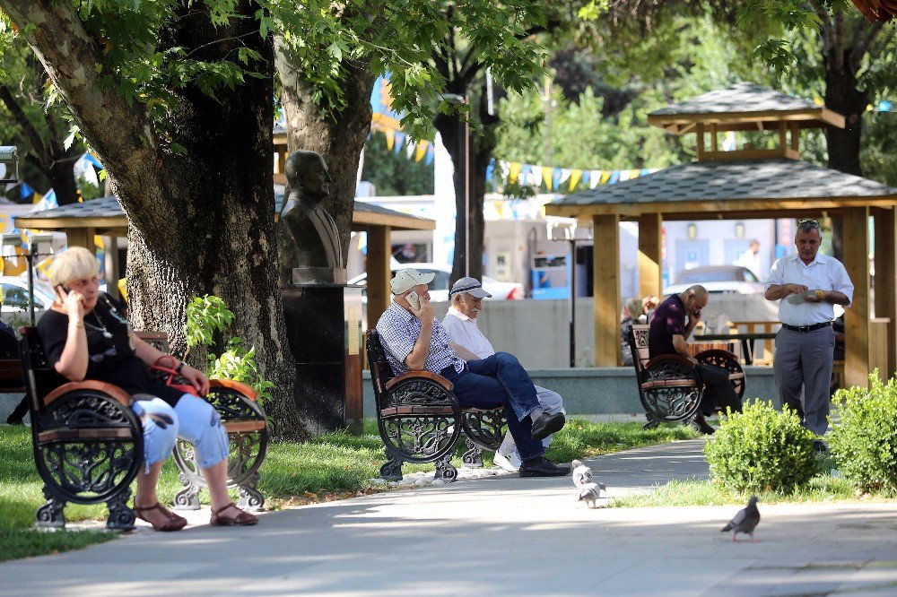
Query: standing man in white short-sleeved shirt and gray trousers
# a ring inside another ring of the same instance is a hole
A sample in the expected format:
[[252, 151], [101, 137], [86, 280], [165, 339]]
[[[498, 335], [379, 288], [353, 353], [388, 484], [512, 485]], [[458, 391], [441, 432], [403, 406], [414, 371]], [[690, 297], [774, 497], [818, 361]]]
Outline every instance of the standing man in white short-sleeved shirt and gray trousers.
[[[787, 405], [797, 411], [804, 427], [820, 437], [829, 426], [833, 305], [848, 307], [853, 300], [847, 270], [834, 257], [819, 255], [822, 242], [818, 221], [800, 221], [794, 237], [797, 255], [777, 260], [766, 279], [766, 299], [779, 301], [782, 323], [773, 358], [779, 408]], [[819, 439], [815, 446], [821, 452], [826, 449]]]

